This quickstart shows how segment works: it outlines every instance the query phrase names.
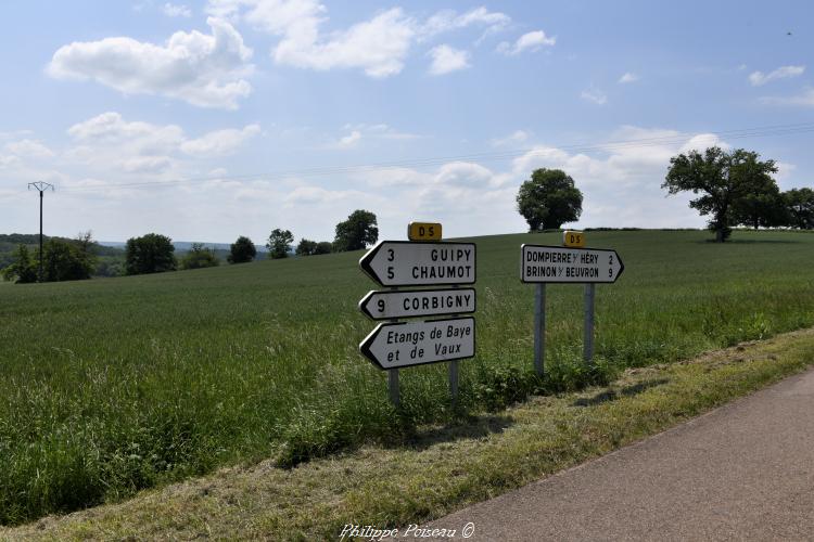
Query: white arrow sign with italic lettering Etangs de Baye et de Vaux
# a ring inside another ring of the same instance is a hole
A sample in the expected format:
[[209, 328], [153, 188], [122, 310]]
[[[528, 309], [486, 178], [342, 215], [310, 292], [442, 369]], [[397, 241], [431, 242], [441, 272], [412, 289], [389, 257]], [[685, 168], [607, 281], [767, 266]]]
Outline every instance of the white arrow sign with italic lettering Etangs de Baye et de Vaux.
[[474, 318], [379, 324], [359, 344], [380, 369], [397, 369], [474, 356]]

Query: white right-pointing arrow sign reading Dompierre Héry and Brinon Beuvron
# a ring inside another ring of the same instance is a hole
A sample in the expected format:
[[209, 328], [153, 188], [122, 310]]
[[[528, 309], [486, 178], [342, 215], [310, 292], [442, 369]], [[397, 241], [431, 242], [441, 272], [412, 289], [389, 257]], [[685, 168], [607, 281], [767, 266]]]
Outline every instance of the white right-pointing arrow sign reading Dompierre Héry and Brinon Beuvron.
[[522, 245], [523, 282], [616, 282], [625, 266], [615, 250]]

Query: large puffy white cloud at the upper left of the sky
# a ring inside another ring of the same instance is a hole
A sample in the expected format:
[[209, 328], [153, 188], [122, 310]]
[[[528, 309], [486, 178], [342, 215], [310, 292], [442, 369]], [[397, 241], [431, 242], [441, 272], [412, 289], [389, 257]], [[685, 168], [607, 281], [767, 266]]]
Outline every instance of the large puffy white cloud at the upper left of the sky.
[[233, 109], [252, 87], [252, 50], [226, 21], [209, 17], [211, 35], [175, 33], [163, 46], [105, 38], [61, 47], [48, 65], [58, 79], [93, 79], [126, 94], [162, 94], [202, 107]]

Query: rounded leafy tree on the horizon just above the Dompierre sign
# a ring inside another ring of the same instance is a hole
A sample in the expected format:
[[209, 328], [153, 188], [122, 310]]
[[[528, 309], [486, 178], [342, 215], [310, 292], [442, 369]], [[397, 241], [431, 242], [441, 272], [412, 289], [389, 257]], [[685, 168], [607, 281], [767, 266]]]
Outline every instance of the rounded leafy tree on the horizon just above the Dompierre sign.
[[532, 171], [531, 179], [520, 185], [517, 203], [530, 232], [560, 228], [582, 214], [582, 192], [561, 169]]

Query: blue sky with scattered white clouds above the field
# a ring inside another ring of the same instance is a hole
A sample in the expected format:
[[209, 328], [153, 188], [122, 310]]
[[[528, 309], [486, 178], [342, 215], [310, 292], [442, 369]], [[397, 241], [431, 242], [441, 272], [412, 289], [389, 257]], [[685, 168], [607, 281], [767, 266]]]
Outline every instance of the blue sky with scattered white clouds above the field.
[[[814, 4], [178, 0], [3, 2], [0, 232], [331, 241], [522, 232], [560, 168], [572, 228], [702, 227], [661, 188], [717, 144], [814, 180]], [[792, 126], [793, 125], [793, 126]], [[778, 128], [779, 127], [779, 128]]]

